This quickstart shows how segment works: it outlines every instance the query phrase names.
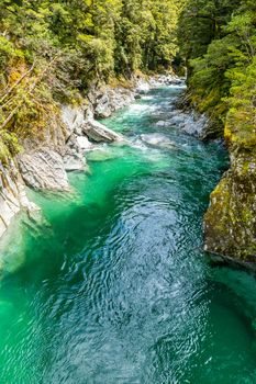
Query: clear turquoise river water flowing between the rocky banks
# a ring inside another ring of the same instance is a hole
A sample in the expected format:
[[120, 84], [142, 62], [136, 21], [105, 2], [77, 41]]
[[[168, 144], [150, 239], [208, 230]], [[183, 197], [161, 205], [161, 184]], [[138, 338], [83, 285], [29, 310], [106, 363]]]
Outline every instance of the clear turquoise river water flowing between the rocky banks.
[[256, 383], [255, 278], [201, 250], [226, 154], [157, 125], [179, 92], [107, 120], [132, 145], [92, 153], [73, 194], [30, 192], [44, 219], [2, 244], [1, 384]]

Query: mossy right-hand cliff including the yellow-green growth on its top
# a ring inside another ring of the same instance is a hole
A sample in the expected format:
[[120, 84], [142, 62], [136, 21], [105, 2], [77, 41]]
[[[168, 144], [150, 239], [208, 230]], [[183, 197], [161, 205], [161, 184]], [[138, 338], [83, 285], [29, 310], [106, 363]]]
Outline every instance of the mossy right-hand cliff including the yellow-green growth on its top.
[[[241, 93], [240, 97], [242, 95]], [[254, 103], [233, 109], [229, 113], [224, 136], [231, 167], [211, 194], [210, 207], [204, 217], [205, 250], [232, 257], [237, 261], [256, 262]]]

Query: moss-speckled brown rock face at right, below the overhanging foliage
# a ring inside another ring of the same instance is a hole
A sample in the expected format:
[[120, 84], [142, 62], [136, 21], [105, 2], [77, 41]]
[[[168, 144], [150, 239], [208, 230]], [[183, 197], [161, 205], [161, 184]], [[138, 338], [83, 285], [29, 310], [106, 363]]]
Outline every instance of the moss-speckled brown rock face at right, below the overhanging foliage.
[[231, 168], [211, 194], [205, 250], [256, 261], [256, 156], [232, 154]]

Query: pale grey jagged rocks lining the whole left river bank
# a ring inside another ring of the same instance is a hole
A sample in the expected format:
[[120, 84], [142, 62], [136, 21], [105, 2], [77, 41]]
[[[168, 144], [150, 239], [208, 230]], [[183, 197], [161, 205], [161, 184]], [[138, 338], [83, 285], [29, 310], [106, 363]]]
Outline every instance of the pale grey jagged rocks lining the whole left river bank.
[[68, 192], [67, 172], [88, 170], [88, 151], [97, 149], [101, 143], [125, 142], [122, 135], [97, 118], [109, 117], [154, 87], [179, 81], [175, 76], [140, 77], [127, 88], [105, 84], [92, 88], [79, 106], [60, 105], [59, 111], [49, 116], [49, 124], [40, 138], [25, 139], [22, 143], [24, 150], [15, 159], [0, 165], [0, 237], [21, 210], [27, 213], [38, 210], [29, 201], [25, 187]]

